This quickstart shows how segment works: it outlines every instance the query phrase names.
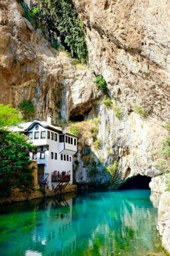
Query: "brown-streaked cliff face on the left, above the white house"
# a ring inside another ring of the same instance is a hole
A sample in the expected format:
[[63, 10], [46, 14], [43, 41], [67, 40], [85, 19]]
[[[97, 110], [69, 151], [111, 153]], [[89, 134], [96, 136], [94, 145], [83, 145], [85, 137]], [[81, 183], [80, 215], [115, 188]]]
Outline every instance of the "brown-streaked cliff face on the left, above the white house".
[[46, 119], [50, 113], [54, 123], [69, 119], [77, 105], [82, 113], [88, 112], [97, 97], [94, 74], [75, 67], [65, 53], [55, 51], [23, 14], [16, 1], [1, 1], [1, 103], [16, 107], [23, 98], [32, 99], [35, 118]]

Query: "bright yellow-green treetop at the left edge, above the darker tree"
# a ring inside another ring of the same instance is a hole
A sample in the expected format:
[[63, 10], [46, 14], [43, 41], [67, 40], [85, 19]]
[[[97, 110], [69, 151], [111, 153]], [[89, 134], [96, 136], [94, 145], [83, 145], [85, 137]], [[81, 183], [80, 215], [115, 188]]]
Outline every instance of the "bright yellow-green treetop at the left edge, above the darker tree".
[[0, 128], [16, 125], [20, 122], [23, 122], [23, 119], [18, 116], [16, 109], [10, 105], [0, 104]]

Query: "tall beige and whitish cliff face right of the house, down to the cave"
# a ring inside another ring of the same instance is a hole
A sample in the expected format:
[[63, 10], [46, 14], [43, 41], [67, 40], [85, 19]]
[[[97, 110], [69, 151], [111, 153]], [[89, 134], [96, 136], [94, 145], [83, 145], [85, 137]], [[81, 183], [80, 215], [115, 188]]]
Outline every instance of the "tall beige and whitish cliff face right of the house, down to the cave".
[[[86, 25], [89, 65], [101, 74], [123, 117], [102, 104], [97, 156], [119, 161], [121, 177], [154, 177], [169, 121], [169, 8], [167, 1], [73, 1]], [[164, 17], [164, 18], [162, 18]], [[133, 112], [141, 106], [148, 115]], [[81, 171], [80, 171], [81, 172]], [[81, 175], [80, 175], [81, 176]], [[83, 177], [82, 177], [83, 179]]]

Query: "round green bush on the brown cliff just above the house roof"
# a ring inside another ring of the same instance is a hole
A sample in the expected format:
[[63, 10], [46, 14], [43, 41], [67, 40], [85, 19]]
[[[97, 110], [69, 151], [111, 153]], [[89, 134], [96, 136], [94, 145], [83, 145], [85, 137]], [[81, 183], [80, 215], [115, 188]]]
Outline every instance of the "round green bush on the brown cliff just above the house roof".
[[31, 100], [26, 100], [25, 98], [18, 104], [18, 109], [20, 109], [24, 119], [30, 119], [33, 117], [35, 109], [33, 102]]

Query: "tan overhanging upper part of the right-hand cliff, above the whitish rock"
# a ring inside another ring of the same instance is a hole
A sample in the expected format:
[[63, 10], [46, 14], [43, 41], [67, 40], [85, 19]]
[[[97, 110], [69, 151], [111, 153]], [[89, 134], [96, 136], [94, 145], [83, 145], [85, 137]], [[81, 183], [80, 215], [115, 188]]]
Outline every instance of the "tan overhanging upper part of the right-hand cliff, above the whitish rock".
[[137, 102], [169, 119], [167, 1], [73, 1], [86, 25], [89, 63], [127, 111]]

